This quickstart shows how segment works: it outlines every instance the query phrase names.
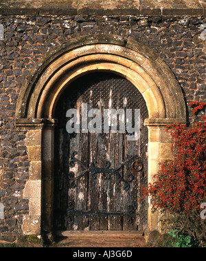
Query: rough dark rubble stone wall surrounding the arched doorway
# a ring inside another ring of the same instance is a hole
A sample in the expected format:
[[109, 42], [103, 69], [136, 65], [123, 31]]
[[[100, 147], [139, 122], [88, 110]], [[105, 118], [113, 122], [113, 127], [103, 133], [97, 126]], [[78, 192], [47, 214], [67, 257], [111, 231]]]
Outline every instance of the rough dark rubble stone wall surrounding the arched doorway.
[[0, 240], [22, 236], [30, 178], [26, 131], [16, 129], [16, 100], [37, 61], [69, 39], [114, 34], [135, 39], [168, 64], [185, 97], [206, 101], [205, 1], [29, 1], [0, 3]]

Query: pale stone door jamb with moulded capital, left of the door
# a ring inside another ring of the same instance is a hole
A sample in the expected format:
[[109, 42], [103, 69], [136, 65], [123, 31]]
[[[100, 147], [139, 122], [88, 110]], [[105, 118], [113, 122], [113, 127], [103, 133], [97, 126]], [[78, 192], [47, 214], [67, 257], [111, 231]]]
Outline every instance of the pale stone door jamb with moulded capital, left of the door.
[[[23, 191], [23, 197], [29, 200], [29, 214], [23, 218], [24, 235], [41, 235], [43, 191], [45, 190], [47, 191], [47, 203], [44, 203], [45, 211], [52, 208], [54, 125], [55, 120], [21, 119], [16, 121], [16, 127], [27, 130], [25, 146], [30, 161], [30, 178]], [[51, 210], [49, 210], [49, 216], [51, 219]]]

